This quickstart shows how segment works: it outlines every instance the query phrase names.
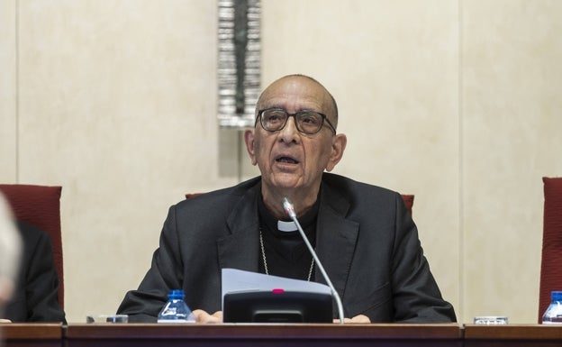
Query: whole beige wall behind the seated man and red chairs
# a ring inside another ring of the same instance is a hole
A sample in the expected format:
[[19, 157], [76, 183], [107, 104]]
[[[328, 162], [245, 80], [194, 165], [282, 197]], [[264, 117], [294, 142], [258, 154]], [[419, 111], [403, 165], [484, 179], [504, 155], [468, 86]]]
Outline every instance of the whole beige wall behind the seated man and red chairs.
[[[257, 173], [216, 113], [213, 1], [0, 1], [0, 181], [63, 186], [69, 322], [112, 313], [168, 206]], [[416, 195], [460, 322], [534, 323], [561, 176], [562, 2], [262, 0], [263, 81], [321, 80], [336, 173]]]

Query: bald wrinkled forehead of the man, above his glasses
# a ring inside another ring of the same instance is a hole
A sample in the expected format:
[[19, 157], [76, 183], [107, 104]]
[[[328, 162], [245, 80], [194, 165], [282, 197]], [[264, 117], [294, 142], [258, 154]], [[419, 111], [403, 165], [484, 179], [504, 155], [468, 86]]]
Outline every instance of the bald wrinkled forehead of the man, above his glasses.
[[281, 78], [272, 83], [258, 99], [258, 110], [282, 107], [287, 112], [313, 110], [333, 114], [331, 96], [319, 83], [304, 77]]

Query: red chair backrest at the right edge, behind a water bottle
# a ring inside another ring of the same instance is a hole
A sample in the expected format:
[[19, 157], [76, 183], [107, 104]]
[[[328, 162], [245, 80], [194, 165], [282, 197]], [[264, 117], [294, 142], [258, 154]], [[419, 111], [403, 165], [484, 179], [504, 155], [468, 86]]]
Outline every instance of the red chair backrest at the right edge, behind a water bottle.
[[542, 178], [544, 219], [540, 260], [539, 323], [550, 292], [562, 290], [562, 178]]

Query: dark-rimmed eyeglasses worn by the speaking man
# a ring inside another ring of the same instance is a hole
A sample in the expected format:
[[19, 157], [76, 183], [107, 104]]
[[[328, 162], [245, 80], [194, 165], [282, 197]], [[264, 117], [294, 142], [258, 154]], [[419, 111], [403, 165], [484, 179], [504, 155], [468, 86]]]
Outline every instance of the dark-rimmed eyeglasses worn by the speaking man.
[[[267, 130], [267, 132], [278, 132], [285, 128], [289, 117], [295, 117], [296, 130], [299, 132], [304, 132], [308, 135], [320, 132], [325, 120], [328, 125], [330, 125], [334, 135], [336, 134], [336, 128], [334, 128], [328, 118], [326, 118], [326, 114], [314, 111], [299, 111], [295, 114], [289, 114], [282, 108], [266, 108], [265, 110], [258, 111], [256, 124], [259, 118], [261, 127]], [[254, 126], [256, 126], [256, 124], [254, 124]]]

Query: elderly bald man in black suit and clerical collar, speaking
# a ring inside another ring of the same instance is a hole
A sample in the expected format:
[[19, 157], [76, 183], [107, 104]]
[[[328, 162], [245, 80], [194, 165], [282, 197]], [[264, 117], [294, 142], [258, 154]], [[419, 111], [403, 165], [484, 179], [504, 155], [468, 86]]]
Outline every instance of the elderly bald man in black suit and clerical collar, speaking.
[[288, 197], [347, 322], [454, 322], [401, 196], [325, 172], [346, 148], [337, 126], [336, 102], [313, 78], [291, 75], [267, 87], [244, 134], [261, 176], [172, 206], [149, 272], [118, 312], [155, 322], [168, 290], [183, 288], [198, 322], [221, 322], [222, 268], [323, 282], [288, 222]]

